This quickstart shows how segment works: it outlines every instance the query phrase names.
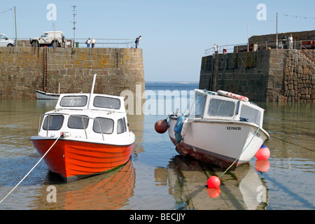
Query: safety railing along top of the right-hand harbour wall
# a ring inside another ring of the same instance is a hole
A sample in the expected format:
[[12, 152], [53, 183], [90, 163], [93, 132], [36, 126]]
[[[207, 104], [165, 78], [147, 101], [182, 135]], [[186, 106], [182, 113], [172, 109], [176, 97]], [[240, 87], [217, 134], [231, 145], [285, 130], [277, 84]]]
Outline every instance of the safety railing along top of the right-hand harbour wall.
[[[290, 44], [287, 40], [285, 43], [282, 43], [282, 40], [279, 39], [278, 48], [276, 46], [275, 41], [262, 41], [262, 42], [254, 42], [254, 43], [238, 43], [238, 44], [230, 44], [230, 45], [220, 45], [217, 47], [218, 53], [226, 52], [246, 52], [246, 51], [255, 51], [255, 50], [266, 50], [266, 49], [289, 49]], [[315, 49], [315, 40], [302, 40], [297, 41], [293, 40], [292, 49], [302, 50], [302, 49]], [[215, 48], [208, 48], [204, 50], [204, 55], [213, 55], [215, 53]]]

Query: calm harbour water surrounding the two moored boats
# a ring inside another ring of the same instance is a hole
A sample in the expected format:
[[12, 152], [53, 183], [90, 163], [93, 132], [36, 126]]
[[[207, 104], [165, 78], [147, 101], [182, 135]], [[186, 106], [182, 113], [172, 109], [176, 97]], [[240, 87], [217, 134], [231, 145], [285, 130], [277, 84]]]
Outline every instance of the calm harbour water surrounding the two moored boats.
[[[314, 104], [258, 103], [266, 109], [264, 128], [271, 137], [265, 142], [271, 152], [267, 164], [253, 158], [250, 165], [223, 175], [220, 190], [211, 191], [205, 188], [207, 179], [224, 170], [182, 158], [168, 134], [154, 130], [155, 122], [179, 102], [183, 111], [189, 90], [197, 87], [146, 84], [150, 101], [144, 112], [128, 116], [137, 140], [125, 166], [66, 184], [42, 161], [0, 209], [314, 209]], [[174, 94], [173, 106], [164, 104], [165, 90]], [[38, 116], [54, 106], [49, 101], [0, 99], [0, 200], [40, 159], [29, 137], [36, 134]], [[50, 186], [57, 190], [57, 202], [48, 202]]]

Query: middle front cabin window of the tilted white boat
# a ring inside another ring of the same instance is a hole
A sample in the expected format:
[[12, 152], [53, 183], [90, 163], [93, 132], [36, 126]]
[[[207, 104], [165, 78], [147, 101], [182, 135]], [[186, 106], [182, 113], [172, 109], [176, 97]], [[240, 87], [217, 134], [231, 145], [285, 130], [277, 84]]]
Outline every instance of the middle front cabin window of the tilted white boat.
[[235, 102], [211, 99], [208, 109], [209, 116], [232, 117], [235, 113]]

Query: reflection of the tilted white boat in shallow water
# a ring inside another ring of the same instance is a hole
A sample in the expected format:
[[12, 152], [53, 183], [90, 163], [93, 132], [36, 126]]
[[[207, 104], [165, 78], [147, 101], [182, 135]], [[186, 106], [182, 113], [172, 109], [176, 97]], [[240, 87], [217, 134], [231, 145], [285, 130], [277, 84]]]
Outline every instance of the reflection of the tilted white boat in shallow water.
[[176, 155], [167, 168], [155, 169], [157, 186], [169, 186], [176, 209], [265, 209], [267, 190], [258, 173], [249, 165], [221, 177], [221, 186], [211, 192], [207, 179], [223, 171], [203, 162]]

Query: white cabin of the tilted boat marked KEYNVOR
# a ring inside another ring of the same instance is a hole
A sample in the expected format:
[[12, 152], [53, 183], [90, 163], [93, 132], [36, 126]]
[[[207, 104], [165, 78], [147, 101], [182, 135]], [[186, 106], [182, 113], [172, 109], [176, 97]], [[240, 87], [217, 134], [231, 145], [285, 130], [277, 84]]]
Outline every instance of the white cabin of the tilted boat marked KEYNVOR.
[[217, 92], [195, 90], [195, 99], [186, 116], [211, 120], [244, 121], [262, 127], [263, 113], [264, 109], [251, 102], [226, 97]]

